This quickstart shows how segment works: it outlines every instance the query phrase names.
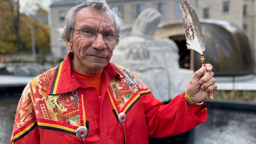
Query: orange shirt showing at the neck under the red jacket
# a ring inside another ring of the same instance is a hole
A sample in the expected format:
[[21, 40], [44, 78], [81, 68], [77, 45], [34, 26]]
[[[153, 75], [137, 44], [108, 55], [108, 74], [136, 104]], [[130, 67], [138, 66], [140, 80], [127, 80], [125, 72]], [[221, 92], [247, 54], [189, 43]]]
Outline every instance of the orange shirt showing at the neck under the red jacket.
[[78, 71], [71, 69], [71, 72], [74, 73], [78, 78], [83, 79], [85, 82], [89, 83], [93, 87], [96, 88], [99, 96], [101, 95], [101, 75], [102, 71], [100, 73], [97, 73], [95, 75], [87, 75], [83, 73], [79, 73]]

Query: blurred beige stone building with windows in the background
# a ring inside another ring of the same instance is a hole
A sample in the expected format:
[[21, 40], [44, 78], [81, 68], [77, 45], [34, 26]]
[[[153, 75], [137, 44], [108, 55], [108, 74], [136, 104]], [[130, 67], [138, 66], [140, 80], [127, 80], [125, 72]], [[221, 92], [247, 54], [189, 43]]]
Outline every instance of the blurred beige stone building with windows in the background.
[[[58, 28], [64, 26], [66, 13], [83, 0], [59, 0], [50, 5], [50, 45], [55, 61], [66, 56], [67, 48], [58, 39]], [[161, 24], [181, 21], [180, 2], [183, 0], [107, 0], [111, 8], [119, 9], [125, 25], [132, 25], [144, 9], [153, 7], [162, 14]], [[250, 44], [256, 49], [255, 0], [190, 0], [199, 19], [220, 19], [244, 28]], [[256, 51], [256, 50], [255, 50]]]

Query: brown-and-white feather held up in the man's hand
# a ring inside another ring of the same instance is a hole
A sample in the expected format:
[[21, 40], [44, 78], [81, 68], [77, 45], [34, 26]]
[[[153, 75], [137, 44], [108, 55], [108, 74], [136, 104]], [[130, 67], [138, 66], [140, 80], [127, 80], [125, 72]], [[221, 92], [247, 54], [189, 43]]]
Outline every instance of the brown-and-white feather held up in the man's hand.
[[194, 9], [190, 7], [190, 2], [188, 0], [181, 2], [180, 8], [182, 12], [183, 26], [185, 28], [187, 48], [203, 54], [205, 50], [204, 36], [197, 14]]

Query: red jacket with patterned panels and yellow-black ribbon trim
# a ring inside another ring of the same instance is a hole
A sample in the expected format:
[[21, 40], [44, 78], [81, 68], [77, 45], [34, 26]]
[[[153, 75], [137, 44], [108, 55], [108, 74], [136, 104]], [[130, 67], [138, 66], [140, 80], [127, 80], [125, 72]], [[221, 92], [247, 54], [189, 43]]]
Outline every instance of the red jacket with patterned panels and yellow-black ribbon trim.
[[[28, 83], [17, 107], [12, 144], [148, 144], [148, 137], [178, 135], [207, 118], [205, 104], [190, 110], [183, 93], [163, 105], [133, 73], [112, 63], [102, 72], [99, 97], [71, 73], [72, 57], [69, 53], [59, 66]], [[80, 126], [88, 128], [82, 139], [76, 136]]]

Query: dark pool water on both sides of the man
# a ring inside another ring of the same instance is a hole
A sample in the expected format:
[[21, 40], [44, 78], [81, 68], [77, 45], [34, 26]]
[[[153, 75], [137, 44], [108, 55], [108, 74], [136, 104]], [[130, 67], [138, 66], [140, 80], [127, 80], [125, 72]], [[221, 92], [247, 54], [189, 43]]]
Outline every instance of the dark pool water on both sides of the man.
[[[9, 144], [19, 96], [0, 95], [0, 144]], [[256, 144], [256, 111], [208, 108], [208, 112], [205, 123], [182, 137], [150, 139], [150, 143]]]

